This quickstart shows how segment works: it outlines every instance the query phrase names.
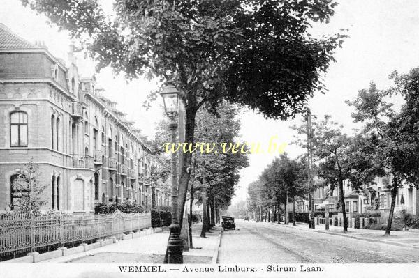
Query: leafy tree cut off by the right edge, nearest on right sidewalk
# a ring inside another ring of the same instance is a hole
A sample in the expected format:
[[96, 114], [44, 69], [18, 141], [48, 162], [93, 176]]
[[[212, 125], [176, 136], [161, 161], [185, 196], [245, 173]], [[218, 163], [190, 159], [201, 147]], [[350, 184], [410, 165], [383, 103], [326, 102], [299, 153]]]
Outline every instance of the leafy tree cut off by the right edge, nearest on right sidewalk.
[[[358, 92], [358, 97], [348, 105], [355, 107], [355, 122], [365, 123], [364, 132], [369, 135], [373, 147], [374, 164], [392, 177], [390, 195], [391, 204], [385, 235], [390, 235], [395, 209], [395, 199], [403, 183], [417, 185], [419, 172], [418, 151], [418, 74], [417, 68], [407, 75], [394, 72], [390, 78], [395, 86], [383, 91], [372, 82], [367, 90]], [[400, 113], [392, 109], [392, 104], [385, 102], [387, 96], [399, 93], [405, 103]]]

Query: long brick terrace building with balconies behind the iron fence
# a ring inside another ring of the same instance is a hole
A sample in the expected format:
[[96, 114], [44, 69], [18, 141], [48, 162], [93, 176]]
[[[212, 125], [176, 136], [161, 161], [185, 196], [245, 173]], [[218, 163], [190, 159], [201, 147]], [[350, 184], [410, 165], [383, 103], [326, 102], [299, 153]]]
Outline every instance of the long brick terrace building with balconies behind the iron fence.
[[[0, 24], [0, 212], [22, 194], [24, 165], [38, 165], [45, 209], [91, 213], [95, 203], [168, 205], [156, 163], [133, 123], [94, 77]], [[24, 187], [23, 187], [24, 188]]]

